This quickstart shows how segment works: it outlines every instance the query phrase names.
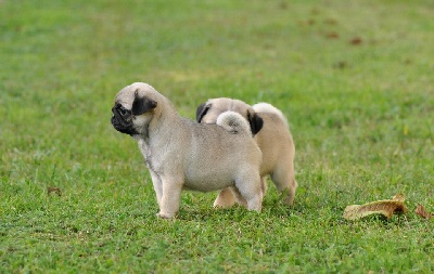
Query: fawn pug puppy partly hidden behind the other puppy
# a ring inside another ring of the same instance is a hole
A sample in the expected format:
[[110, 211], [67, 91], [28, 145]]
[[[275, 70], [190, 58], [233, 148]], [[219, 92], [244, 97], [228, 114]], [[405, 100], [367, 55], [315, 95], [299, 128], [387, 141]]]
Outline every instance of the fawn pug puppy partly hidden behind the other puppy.
[[[294, 203], [297, 182], [294, 174], [295, 146], [289, 123], [282, 112], [267, 103], [253, 106], [233, 99], [210, 99], [201, 104], [196, 109], [196, 121], [215, 123], [217, 117], [227, 110], [241, 114], [251, 125], [252, 133], [263, 153], [260, 165], [261, 187], [265, 195], [267, 190], [267, 174], [285, 195], [283, 201], [289, 206]], [[258, 119], [263, 120], [260, 131], [256, 129]], [[217, 196], [214, 205], [217, 207], [231, 207], [235, 199], [229, 190], [224, 190]]]

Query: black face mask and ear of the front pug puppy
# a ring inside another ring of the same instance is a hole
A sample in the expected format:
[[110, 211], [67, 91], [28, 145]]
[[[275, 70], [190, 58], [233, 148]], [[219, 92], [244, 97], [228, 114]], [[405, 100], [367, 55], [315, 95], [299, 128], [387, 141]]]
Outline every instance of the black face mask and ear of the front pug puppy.
[[133, 127], [135, 116], [142, 115], [156, 107], [156, 102], [148, 97], [139, 97], [138, 92], [135, 93], [132, 108], [127, 109], [122, 104], [116, 103], [112, 107], [112, 125], [113, 127], [125, 134], [135, 135], [139, 132]]

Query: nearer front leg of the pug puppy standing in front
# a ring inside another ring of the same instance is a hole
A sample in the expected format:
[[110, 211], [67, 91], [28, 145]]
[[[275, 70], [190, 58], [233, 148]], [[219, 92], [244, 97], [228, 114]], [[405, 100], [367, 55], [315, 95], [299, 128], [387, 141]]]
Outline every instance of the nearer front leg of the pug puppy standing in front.
[[181, 199], [182, 183], [174, 179], [162, 178], [163, 195], [159, 204], [159, 218], [174, 218], [179, 210]]

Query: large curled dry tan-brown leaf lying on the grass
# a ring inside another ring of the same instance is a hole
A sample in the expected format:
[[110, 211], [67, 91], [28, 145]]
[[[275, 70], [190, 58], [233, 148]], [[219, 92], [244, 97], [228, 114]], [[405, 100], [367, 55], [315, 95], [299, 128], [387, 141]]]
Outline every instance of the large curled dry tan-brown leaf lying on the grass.
[[407, 208], [404, 205], [405, 196], [395, 195], [392, 199], [376, 200], [365, 205], [347, 206], [343, 217], [347, 220], [357, 220], [370, 214], [383, 214], [387, 219], [395, 212], [406, 212]]

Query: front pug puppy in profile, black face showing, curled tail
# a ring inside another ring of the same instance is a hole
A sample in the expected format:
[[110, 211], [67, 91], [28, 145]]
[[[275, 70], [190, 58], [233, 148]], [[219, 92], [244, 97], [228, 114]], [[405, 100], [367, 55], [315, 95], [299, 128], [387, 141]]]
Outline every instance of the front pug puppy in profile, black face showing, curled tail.
[[158, 217], [175, 217], [182, 190], [227, 188], [239, 204], [260, 211], [261, 153], [241, 115], [225, 112], [216, 117], [217, 125], [201, 125], [180, 117], [165, 96], [143, 82], [122, 89], [112, 112], [113, 127], [138, 141]]

